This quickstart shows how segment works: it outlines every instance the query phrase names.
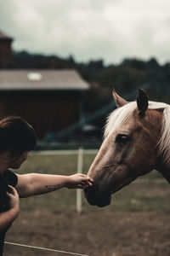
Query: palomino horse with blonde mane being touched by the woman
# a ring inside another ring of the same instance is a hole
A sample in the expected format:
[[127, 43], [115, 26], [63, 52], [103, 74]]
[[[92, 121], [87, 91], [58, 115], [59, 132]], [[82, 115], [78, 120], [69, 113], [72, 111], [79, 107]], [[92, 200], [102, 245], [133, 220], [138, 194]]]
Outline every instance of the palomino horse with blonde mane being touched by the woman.
[[105, 125], [104, 142], [88, 171], [94, 186], [85, 189], [88, 203], [105, 207], [111, 194], [153, 169], [170, 183], [170, 105], [148, 102], [139, 89], [136, 102], [113, 90], [117, 109]]

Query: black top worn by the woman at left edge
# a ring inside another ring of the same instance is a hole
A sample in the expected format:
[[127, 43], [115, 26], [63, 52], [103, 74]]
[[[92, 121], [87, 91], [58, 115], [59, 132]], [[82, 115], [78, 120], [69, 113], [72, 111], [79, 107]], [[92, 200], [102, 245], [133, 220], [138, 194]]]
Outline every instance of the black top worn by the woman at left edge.
[[[18, 183], [18, 178], [9, 170], [6, 170], [3, 173], [0, 173], [0, 214], [1, 212], [7, 212], [9, 210], [9, 198], [7, 196], [7, 191], [10, 193], [8, 185], [13, 187]], [[9, 228], [9, 227], [8, 227]], [[5, 239], [5, 234], [8, 230], [0, 231], [0, 256], [3, 255], [3, 244]]]

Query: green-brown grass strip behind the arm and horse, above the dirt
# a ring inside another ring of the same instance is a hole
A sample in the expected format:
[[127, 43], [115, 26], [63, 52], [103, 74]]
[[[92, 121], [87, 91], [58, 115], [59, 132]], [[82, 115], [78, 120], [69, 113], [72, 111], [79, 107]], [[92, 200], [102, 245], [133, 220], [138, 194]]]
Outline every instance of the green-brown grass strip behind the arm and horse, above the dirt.
[[[83, 172], [87, 173], [94, 160], [94, 154], [84, 155]], [[37, 172], [61, 175], [71, 175], [77, 172], [77, 155], [31, 155], [21, 167], [20, 173]], [[160, 181], [161, 182], [157, 182]], [[156, 171], [112, 195], [111, 206], [105, 208], [91, 207], [83, 199], [84, 212], [108, 211], [157, 211], [170, 212], [169, 184]], [[60, 189], [47, 195], [21, 199], [20, 207], [23, 211], [43, 210], [47, 212], [70, 212], [76, 210], [76, 189]]]

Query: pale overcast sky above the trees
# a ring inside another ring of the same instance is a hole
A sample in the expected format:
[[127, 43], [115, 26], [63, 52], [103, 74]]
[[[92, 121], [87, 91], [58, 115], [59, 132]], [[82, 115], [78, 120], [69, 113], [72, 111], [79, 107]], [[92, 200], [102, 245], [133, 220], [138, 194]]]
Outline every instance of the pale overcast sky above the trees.
[[169, 0], [1, 0], [0, 30], [31, 53], [170, 61]]

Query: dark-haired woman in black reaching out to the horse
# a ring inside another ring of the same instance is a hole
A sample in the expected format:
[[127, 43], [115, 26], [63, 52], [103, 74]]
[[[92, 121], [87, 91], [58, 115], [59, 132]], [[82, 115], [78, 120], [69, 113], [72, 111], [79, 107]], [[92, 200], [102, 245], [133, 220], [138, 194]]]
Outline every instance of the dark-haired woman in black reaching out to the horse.
[[61, 188], [86, 189], [93, 180], [84, 174], [71, 176], [15, 174], [37, 143], [36, 133], [25, 119], [8, 116], [0, 121], [0, 255], [5, 234], [20, 211], [19, 198], [40, 195]]

